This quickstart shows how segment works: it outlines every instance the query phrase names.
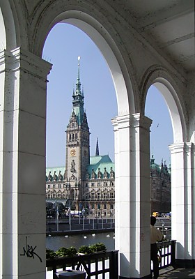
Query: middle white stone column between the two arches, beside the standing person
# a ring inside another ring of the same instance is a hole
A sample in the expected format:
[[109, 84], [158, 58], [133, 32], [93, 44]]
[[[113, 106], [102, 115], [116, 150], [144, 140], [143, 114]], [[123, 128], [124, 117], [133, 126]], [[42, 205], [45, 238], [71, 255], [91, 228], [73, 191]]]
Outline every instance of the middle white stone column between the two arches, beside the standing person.
[[120, 278], [150, 278], [150, 125], [141, 114], [113, 119], [116, 250]]

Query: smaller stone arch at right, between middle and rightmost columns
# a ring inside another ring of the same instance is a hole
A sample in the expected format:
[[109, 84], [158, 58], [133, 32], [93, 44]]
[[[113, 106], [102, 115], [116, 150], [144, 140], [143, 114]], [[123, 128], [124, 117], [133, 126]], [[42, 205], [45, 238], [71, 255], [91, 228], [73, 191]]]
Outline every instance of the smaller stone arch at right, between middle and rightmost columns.
[[154, 85], [162, 93], [169, 110], [173, 128], [173, 143], [186, 141], [187, 116], [185, 114], [184, 105], [179, 98], [180, 89], [175, 80], [171, 77], [171, 74], [169, 74], [169, 71], [161, 66], [153, 66], [146, 71], [142, 84], [141, 111], [143, 114], [148, 89], [151, 85]]

